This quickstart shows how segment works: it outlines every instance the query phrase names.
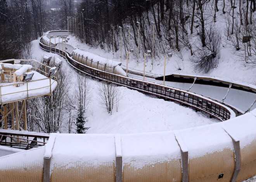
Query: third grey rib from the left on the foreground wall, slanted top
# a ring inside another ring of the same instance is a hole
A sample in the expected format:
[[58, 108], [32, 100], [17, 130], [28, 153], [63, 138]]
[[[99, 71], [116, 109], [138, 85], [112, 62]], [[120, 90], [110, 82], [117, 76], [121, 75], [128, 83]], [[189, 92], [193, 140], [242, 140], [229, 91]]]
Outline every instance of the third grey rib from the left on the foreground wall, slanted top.
[[178, 132], [175, 132], [175, 138], [180, 146], [182, 156], [182, 182], [189, 182], [189, 151]]

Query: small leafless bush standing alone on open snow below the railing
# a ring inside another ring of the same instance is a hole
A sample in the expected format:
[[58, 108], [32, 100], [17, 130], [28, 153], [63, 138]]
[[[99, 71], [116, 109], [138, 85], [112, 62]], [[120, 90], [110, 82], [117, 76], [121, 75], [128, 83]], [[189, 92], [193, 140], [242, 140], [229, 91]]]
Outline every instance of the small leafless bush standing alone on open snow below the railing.
[[121, 99], [119, 88], [112, 83], [102, 83], [99, 88], [100, 103], [104, 105], [109, 114], [112, 114], [114, 106], [118, 111], [118, 103]]

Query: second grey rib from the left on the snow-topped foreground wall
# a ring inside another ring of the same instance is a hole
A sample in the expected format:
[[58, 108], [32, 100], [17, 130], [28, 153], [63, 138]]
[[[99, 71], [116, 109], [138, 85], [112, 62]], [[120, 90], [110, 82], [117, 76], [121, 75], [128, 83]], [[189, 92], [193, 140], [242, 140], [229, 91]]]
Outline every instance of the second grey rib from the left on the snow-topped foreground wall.
[[122, 148], [121, 136], [115, 135], [115, 149], [116, 149], [116, 182], [123, 181], [123, 162], [122, 162]]

